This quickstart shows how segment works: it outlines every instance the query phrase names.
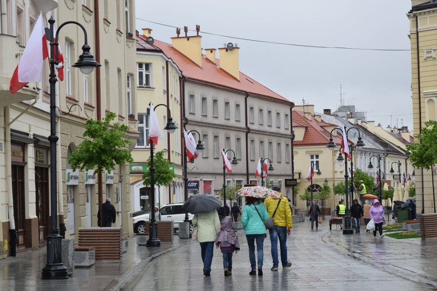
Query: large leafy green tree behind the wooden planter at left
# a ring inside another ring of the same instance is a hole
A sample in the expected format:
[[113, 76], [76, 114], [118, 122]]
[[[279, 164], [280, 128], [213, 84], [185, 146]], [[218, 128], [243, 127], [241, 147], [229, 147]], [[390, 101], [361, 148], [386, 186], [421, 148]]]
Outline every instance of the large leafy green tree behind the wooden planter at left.
[[[105, 170], [111, 172], [117, 164], [122, 165], [127, 162], [133, 162], [132, 155], [126, 148], [131, 142], [123, 138], [129, 127], [120, 123], [110, 125], [110, 122], [116, 116], [115, 113], [109, 112], [101, 120], [88, 119], [85, 122], [83, 136], [89, 139], [82, 141], [68, 157], [68, 161], [73, 169], [80, 171], [95, 169], [95, 175], [102, 174]], [[103, 193], [100, 187], [98, 187], [99, 211], [102, 203]], [[103, 221], [103, 212], [101, 211], [100, 213], [100, 221]]]

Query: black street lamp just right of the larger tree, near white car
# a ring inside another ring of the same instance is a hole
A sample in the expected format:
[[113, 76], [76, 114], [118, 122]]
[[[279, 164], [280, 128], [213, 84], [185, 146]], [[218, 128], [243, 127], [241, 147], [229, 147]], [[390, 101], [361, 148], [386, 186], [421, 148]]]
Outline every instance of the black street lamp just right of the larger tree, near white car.
[[[150, 102], [149, 111], [150, 111], [151, 104], [152, 103]], [[170, 108], [165, 104], [158, 104], [157, 106], [155, 106], [153, 111], [155, 111], [156, 108], [160, 106], [167, 107], [167, 111], [168, 111], [167, 125], [165, 126], [164, 129], [167, 130], [168, 133], [173, 133], [177, 129], [177, 126], [173, 122], [173, 118], [171, 117]], [[155, 168], [153, 165], [153, 139], [150, 139], [150, 196], [151, 196], [150, 204], [153, 207], [155, 206]], [[161, 241], [157, 237], [157, 223], [155, 219], [155, 212], [153, 211], [153, 209], [150, 212], [150, 214], [151, 214], [151, 219], [149, 225], [149, 239], [146, 242], [146, 246], [161, 246]]]

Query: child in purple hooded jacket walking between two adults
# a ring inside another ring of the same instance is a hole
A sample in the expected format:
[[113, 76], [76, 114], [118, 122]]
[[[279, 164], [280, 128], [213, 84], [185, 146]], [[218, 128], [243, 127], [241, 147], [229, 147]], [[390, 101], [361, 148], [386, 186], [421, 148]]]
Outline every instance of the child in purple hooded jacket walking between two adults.
[[240, 243], [238, 242], [238, 236], [235, 233], [235, 228], [232, 225], [230, 217], [223, 218], [222, 227], [215, 239], [216, 247], [220, 247], [223, 254], [223, 268], [225, 270], [225, 276], [232, 275], [232, 254], [238, 253], [240, 250]]

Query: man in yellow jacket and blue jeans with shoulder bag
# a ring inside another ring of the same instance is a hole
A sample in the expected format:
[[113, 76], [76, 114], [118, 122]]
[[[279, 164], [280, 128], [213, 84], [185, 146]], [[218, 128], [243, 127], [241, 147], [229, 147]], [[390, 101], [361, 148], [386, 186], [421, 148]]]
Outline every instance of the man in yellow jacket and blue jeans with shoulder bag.
[[[273, 184], [272, 190], [281, 193], [281, 186], [279, 184]], [[281, 264], [283, 269], [291, 267], [291, 262], [288, 262], [287, 258], [287, 234], [291, 233], [291, 227], [293, 227], [293, 220], [291, 217], [290, 204], [285, 197], [270, 198], [267, 197], [264, 200], [266, 204], [269, 217], [273, 217], [273, 228], [269, 230], [271, 253], [273, 258], [273, 266], [271, 271], [277, 271], [279, 267], [279, 259], [277, 255], [277, 240], [281, 248]], [[273, 216], [274, 214], [274, 216]]]

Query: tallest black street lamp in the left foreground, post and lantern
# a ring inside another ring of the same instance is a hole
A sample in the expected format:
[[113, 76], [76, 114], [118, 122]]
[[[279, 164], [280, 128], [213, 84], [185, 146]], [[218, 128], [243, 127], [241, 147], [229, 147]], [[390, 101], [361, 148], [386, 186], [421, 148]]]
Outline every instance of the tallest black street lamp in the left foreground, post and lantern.
[[[94, 57], [90, 54], [88, 37], [85, 28], [78, 22], [68, 21], [59, 26], [54, 35], [53, 17], [50, 17], [50, 28], [46, 28], [46, 38], [50, 41], [50, 204], [51, 204], [51, 227], [47, 239], [47, 264], [43, 268], [42, 279], [68, 279], [67, 267], [62, 263], [62, 236], [59, 235], [57, 228], [57, 176], [56, 176], [56, 142], [59, 137], [56, 136], [56, 88], [57, 82], [55, 66], [59, 64], [58, 59], [58, 34], [67, 24], [75, 24], [82, 28], [85, 35], [85, 44], [82, 47], [83, 53], [79, 60], [72, 67], [79, 68], [83, 74], [90, 74], [96, 67], [100, 67]], [[53, 40], [56, 42], [53, 42]]]

